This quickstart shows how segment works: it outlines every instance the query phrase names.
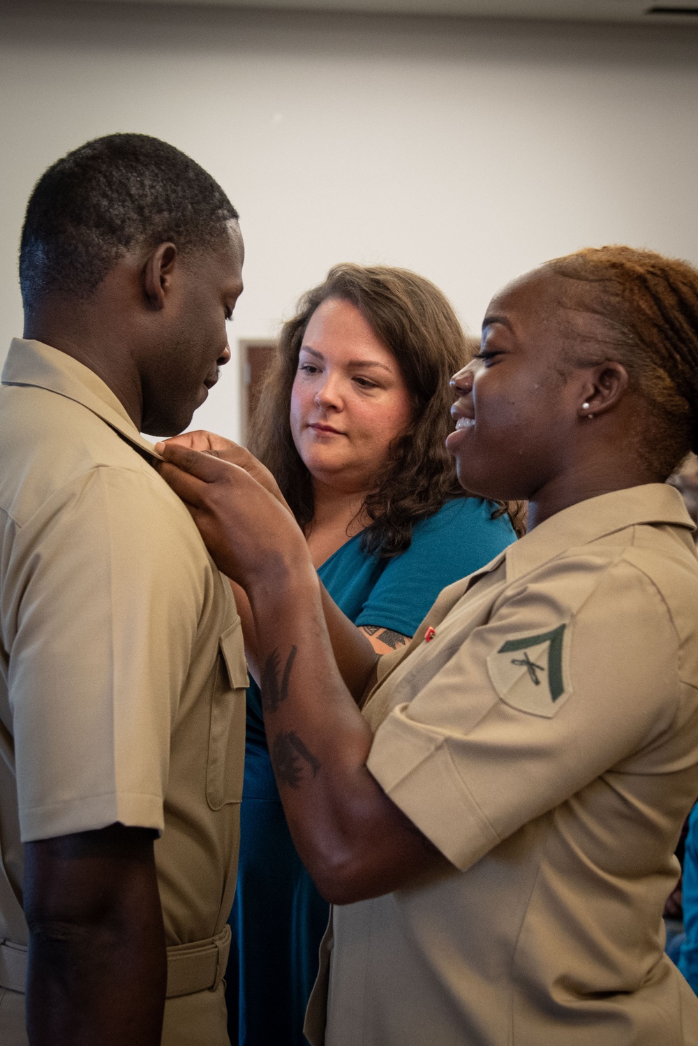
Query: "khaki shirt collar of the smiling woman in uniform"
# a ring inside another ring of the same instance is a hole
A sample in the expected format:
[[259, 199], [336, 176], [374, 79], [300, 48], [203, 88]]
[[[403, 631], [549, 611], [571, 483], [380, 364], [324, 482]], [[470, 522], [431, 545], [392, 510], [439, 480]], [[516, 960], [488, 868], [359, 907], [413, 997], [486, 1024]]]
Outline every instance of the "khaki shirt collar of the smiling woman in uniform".
[[693, 547], [695, 525], [678, 491], [668, 483], [644, 483], [579, 501], [544, 520], [506, 550], [507, 581], [515, 581], [567, 548], [642, 523], [685, 528], [685, 543]]

